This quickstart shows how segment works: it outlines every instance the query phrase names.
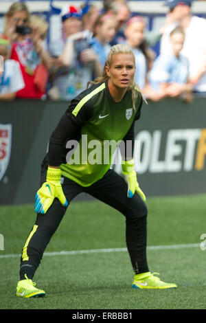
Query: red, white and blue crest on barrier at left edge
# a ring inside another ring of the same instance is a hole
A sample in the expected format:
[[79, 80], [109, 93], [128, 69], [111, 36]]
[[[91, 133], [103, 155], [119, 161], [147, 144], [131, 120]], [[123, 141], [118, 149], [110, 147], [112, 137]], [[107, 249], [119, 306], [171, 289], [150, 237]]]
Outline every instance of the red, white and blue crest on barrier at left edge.
[[0, 181], [8, 168], [12, 146], [12, 125], [0, 124]]

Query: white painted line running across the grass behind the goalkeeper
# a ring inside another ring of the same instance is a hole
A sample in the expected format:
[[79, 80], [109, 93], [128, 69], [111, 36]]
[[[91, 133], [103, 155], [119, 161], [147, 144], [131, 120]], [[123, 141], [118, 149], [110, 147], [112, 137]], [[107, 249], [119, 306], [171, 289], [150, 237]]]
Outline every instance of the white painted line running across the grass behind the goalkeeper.
[[[200, 247], [200, 243], [188, 243], [185, 245], [151, 245], [148, 250], [163, 250], [163, 249], [183, 249]], [[105, 252], [126, 252], [127, 248], [110, 248], [110, 249], [90, 249], [90, 250], [73, 250], [62, 252], [45, 252], [44, 256], [71, 256], [75, 254], [100, 254]], [[1, 252], [0, 252], [1, 253]], [[20, 254], [0, 254], [0, 258], [19, 258]]]

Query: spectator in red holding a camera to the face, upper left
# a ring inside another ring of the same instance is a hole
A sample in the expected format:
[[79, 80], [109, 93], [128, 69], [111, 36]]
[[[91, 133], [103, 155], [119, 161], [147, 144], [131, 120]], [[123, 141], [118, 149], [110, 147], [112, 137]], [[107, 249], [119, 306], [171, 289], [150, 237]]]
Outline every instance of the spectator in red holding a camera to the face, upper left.
[[17, 60], [25, 82], [24, 89], [16, 93], [17, 98], [44, 99], [51, 58], [43, 44], [47, 33], [47, 22], [40, 16], [30, 19], [30, 27], [18, 30], [11, 50], [11, 58]]

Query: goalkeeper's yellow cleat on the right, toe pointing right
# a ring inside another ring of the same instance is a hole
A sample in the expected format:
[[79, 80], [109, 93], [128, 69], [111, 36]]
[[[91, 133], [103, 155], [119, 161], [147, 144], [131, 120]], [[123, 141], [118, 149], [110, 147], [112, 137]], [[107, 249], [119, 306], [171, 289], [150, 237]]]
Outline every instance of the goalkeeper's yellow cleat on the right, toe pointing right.
[[[159, 277], [154, 276], [150, 271], [143, 274], [135, 275], [135, 279], [133, 281], [133, 288], [139, 289], [168, 289], [168, 288], [176, 288], [176, 284], [170, 282], [162, 282]], [[159, 275], [159, 274], [158, 274]]]

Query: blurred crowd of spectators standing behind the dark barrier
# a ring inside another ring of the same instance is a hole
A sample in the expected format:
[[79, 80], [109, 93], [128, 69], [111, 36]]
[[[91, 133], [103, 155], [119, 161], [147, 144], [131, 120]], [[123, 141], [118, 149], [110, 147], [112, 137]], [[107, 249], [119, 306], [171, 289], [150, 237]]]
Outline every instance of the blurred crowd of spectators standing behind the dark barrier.
[[[59, 13], [62, 36], [48, 44], [45, 18], [30, 14], [23, 2], [12, 3], [0, 35], [0, 100], [71, 100], [102, 75], [111, 46], [126, 43], [135, 54], [135, 82], [145, 98], [191, 102], [194, 92], [206, 93], [206, 19], [192, 15], [191, 0], [165, 5], [165, 24], [152, 31], [126, 0], [103, 0], [103, 10], [94, 2], [67, 5]], [[157, 42], [158, 56], [152, 49]]]

